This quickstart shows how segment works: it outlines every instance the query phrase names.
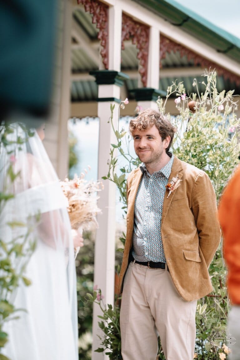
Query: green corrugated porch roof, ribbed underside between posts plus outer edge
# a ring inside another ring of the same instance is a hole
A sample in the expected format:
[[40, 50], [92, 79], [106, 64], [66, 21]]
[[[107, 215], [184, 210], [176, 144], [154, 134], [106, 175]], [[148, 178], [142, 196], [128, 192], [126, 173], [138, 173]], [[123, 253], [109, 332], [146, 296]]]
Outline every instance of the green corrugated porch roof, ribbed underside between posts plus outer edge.
[[[227, 33], [226, 31], [214, 26], [207, 20], [203, 19], [199, 15], [178, 4], [174, 0], [135, 0], [145, 8], [155, 12], [159, 17], [166, 19], [168, 22], [176, 26], [176, 32], [179, 27], [182, 30], [191, 33], [192, 36], [203, 41], [205, 44], [209, 44], [216, 51], [226, 52], [228, 57], [235, 59], [239, 62], [240, 59], [240, 39]], [[74, 10], [74, 19], [78, 22], [78, 25], [86, 33], [91, 41], [94, 41], [97, 37], [97, 29], [95, 24], [91, 23], [91, 15], [86, 13], [83, 8]], [[167, 34], [166, 34], [167, 35]], [[90, 42], [91, 42], [90, 41]], [[73, 44], [75, 42], [73, 41]], [[76, 42], [77, 43], [77, 42]], [[91, 45], [89, 45], [91, 46]], [[96, 50], [93, 48], [93, 50]], [[194, 51], [194, 49], [193, 49]], [[96, 50], [97, 53], [97, 50]], [[121, 71], [127, 71], [138, 69], [139, 60], [137, 59], [136, 45], [130, 45], [122, 50], [122, 63]], [[187, 59], [186, 56], [181, 57], [180, 53], [171, 51], [166, 53], [166, 58], [162, 59], [162, 68], [187, 68], [198, 65], [194, 65], [193, 60]], [[86, 49], [81, 46], [72, 49], [72, 73], [88, 72], [90, 70], [98, 69], [98, 64], [91, 59], [91, 56], [87, 53]], [[198, 72], [199, 73], [199, 72]], [[166, 77], [159, 79], [159, 89], [166, 91], [167, 87], [172, 84], [172, 81], [183, 81], [186, 91], [191, 93], [195, 91], [193, 88], [193, 78], [199, 82], [200, 91], [204, 91], [202, 88], [200, 76], [176, 76]], [[125, 87], [127, 90], [127, 96], [132, 99], [132, 93], [129, 90], [137, 87], [138, 80], [136, 78], [130, 78], [126, 80]], [[240, 86], [232, 83], [230, 80], [218, 76], [217, 80], [218, 91], [225, 89], [226, 91], [235, 89], [235, 94], [240, 94]], [[94, 80], [87, 81], [72, 81], [71, 86], [72, 102], [78, 101], [92, 101], [98, 98], [98, 86]]]

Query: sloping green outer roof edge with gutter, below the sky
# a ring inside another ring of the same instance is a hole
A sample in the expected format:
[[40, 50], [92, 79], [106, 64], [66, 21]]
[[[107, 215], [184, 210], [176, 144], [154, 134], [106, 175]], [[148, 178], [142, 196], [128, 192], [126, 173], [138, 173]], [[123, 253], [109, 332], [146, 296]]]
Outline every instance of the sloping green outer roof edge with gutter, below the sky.
[[134, 1], [166, 19], [171, 24], [183, 27], [185, 31], [211, 45], [218, 52], [226, 53], [229, 57], [239, 61], [240, 39], [215, 26], [200, 15], [185, 8], [185, 6], [174, 0]]

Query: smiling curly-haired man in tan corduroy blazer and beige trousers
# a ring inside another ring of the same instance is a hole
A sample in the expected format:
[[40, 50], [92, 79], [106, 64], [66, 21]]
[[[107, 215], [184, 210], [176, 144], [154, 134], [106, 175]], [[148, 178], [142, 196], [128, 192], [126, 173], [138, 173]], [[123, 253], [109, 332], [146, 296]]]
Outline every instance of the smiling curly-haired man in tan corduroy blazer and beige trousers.
[[[142, 161], [127, 179], [127, 233], [118, 292], [123, 360], [192, 360], [197, 299], [221, 231], [207, 174], [169, 151], [175, 127], [146, 109], [130, 121]], [[124, 280], [124, 281], [123, 281]]]

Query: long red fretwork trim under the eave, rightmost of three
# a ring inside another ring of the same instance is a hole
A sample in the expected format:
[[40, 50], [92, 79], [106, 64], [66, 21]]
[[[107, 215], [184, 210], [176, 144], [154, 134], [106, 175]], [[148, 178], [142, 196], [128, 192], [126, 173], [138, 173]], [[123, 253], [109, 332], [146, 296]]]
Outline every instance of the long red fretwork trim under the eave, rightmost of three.
[[171, 53], [171, 51], [174, 53], [179, 51], [181, 57], [186, 56], [187, 60], [193, 60], [195, 66], [200, 65], [203, 68], [216, 69], [218, 75], [223, 76], [225, 79], [229, 79], [231, 82], [235, 82], [236, 85], [240, 85], [240, 77], [236, 74], [208, 59], [203, 58], [201, 55], [194, 53], [194, 51], [185, 48], [185, 46], [177, 44], [164, 35], [160, 36], [160, 67], [162, 67], [161, 60], [165, 59], [166, 53]]

